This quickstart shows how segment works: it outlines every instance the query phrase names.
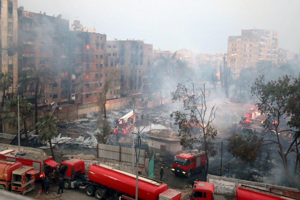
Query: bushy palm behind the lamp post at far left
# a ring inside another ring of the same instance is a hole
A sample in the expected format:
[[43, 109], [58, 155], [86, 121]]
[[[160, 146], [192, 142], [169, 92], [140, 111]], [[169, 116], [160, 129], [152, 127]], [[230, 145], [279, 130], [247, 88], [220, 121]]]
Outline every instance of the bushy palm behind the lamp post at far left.
[[[33, 116], [31, 108], [32, 104], [27, 101], [26, 97], [19, 98], [20, 126], [24, 126], [26, 143], [28, 143], [26, 119]], [[1, 112], [1, 117], [9, 127], [18, 127], [18, 99], [15, 98], [7, 101], [3, 107], [3, 112]]]

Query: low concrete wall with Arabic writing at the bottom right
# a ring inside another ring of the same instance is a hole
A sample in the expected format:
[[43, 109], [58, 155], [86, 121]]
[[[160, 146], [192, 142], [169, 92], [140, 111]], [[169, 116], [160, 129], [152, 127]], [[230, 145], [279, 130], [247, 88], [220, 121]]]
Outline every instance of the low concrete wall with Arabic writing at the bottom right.
[[247, 185], [262, 190], [267, 190], [291, 197], [300, 197], [300, 190], [290, 187], [282, 187], [277, 185], [258, 183], [253, 181], [245, 181], [235, 178], [226, 178], [221, 176], [207, 175], [206, 182], [214, 184], [214, 193], [231, 196], [235, 186]]

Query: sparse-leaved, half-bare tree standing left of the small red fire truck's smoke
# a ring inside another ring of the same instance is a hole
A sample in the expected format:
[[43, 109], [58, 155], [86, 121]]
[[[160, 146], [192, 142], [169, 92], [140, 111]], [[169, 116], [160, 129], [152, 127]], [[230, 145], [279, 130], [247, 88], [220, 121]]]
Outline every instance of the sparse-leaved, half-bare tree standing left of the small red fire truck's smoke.
[[179, 136], [182, 136], [180, 144], [184, 147], [193, 148], [193, 144], [197, 141], [195, 134], [191, 131], [190, 123], [199, 125], [202, 129], [203, 137], [201, 139], [205, 156], [206, 156], [206, 171], [208, 173], [208, 154], [214, 154], [214, 143], [212, 139], [217, 136], [217, 130], [214, 128], [213, 121], [217, 107], [215, 104], [208, 108], [205, 99], [205, 84], [201, 88], [195, 88], [194, 83], [189, 80], [187, 84], [179, 83], [175, 92], [172, 92], [172, 101], [182, 102], [183, 111], [173, 111], [170, 115], [175, 119], [175, 125], [179, 125]]

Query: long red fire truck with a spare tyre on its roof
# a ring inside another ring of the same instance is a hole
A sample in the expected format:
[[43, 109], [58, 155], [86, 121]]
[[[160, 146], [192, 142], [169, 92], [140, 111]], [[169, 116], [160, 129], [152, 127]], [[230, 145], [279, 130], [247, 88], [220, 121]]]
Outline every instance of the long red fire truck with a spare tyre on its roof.
[[[55, 169], [59, 164], [53, 160], [52, 156], [26, 153], [24, 151], [4, 150], [0, 152], [0, 159], [18, 161], [24, 166], [34, 167], [38, 171], [35, 175], [35, 180], [38, 180], [46, 175], [52, 174], [55, 176]], [[57, 174], [58, 177], [59, 174]]]

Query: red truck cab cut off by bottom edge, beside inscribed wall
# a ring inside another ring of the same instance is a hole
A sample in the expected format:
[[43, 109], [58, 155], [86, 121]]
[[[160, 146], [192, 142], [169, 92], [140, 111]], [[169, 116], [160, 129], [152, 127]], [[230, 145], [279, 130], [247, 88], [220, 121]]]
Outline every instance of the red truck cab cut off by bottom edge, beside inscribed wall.
[[197, 181], [193, 186], [190, 200], [214, 199], [214, 184]]

